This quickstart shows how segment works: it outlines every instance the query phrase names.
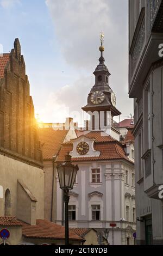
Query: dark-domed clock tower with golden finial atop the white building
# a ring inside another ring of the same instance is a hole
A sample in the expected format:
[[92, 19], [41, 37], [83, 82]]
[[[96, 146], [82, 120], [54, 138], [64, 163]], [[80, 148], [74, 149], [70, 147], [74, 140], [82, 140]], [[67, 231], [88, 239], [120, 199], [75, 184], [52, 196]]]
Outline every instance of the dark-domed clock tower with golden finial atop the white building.
[[111, 130], [114, 130], [119, 136], [120, 132], [118, 132], [118, 126], [115, 125], [113, 117], [120, 115], [121, 112], [116, 108], [116, 96], [109, 86], [110, 73], [105, 66], [103, 42], [104, 34], [102, 33], [101, 46], [99, 47], [101, 57], [95, 72], [93, 72], [95, 75], [95, 85], [87, 97], [87, 105], [82, 109], [91, 117], [87, 130], [102, 130], [110, 133], [109, 135], [112, 133]]

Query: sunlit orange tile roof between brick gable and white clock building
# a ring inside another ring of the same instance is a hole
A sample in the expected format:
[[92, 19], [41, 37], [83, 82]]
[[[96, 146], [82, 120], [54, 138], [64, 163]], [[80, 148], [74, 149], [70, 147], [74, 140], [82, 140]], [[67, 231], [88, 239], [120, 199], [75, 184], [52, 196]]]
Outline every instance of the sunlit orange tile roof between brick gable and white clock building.
[[68, 131], [53, 130], [50, 128], [40, 128], [39, 129], [39, 140], [42, 145], [42, 156], [43, 160], [52, 159], [54, 155], [57, 155], [61, 144], [64, 142], [64, 139]]

